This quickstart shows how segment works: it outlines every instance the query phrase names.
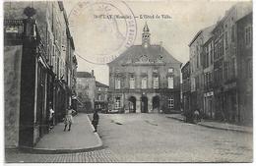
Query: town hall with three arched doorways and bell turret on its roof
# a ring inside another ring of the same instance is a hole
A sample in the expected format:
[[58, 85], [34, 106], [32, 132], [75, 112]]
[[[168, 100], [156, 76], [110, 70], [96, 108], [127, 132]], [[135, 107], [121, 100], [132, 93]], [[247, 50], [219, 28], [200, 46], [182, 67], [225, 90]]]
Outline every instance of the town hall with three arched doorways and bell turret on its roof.
[[162, 45], [151, 44], [148, 25], [142, 45], [133, 45], [109, 67], [109, 109], [126, 113], [159, 113], [180, 109], [181, 63]]

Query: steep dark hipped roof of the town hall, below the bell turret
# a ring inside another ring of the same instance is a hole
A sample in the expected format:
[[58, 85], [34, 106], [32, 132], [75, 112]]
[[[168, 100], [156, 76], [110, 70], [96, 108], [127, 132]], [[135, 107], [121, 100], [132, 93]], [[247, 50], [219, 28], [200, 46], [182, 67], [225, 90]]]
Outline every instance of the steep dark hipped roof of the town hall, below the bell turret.
[[150, 45], [147, 48], [142, 45], [133, 45], [107, 65], [136, 63], [143, 56], [146, 56], [150, 63], [157, 63], [160, 60], [164, 63], [181, 64], [181, 62], [170, 55], [161, 45]]

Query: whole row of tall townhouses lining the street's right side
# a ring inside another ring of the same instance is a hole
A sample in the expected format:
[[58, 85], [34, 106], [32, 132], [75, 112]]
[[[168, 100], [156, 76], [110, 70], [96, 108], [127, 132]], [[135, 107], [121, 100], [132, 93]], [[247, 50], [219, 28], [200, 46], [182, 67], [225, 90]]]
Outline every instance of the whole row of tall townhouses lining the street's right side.
[[183, 109], [252, 124], [252, 5], [237, 3], [189, 43], [181, 69]]

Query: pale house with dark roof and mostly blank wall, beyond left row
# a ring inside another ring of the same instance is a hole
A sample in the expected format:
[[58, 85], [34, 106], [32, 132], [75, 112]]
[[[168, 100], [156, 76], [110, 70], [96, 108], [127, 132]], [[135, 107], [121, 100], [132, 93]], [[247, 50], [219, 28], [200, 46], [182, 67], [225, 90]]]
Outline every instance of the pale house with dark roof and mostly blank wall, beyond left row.
[[77, 72], [77, 95], [81, 102], [78, 106], [78, 111], [93, 112], [96, 100], [96, 78], [94, 71], [92, 73]]

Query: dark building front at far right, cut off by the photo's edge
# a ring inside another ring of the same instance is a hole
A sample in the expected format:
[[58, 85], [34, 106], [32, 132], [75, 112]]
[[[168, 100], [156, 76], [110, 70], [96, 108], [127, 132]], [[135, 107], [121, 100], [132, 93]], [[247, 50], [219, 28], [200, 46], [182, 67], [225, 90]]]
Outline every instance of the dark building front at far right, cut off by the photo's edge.
[[240, 122], [253, 125], [252, 80], [252, 13], [236, 22], [237, 28], [237, 82]]

